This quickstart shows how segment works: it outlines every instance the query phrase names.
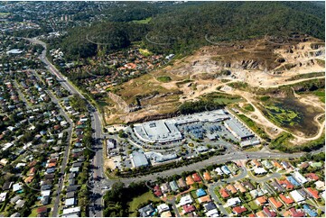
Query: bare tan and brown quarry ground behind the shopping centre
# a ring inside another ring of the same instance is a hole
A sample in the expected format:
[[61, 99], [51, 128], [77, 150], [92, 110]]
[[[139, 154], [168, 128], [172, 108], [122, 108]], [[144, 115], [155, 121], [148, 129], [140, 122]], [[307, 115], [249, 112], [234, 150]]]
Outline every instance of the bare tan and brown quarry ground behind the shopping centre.
[[[173, 60], [165, 68], [117, 86], [116, 95], [121, 102], [116, 103], [111, 113], [108, 110], [107, 123], [133, 123], [171, 114], [183, 102], [196, 101], [202, 95], [219, 92], [220, 87], [228, 87], [233, 82], [268, 88], [306, 81], [312, 78], [286, 80], [297, 75], [324, 72], [324, 61], [324, 42], [303, 35], [291, 36], [284, 43], [273, 42], [273, 37], [265, 36], [256, 40], [235, 41], [227, 46], [205, 46], [191, 56]], [[223, 70], [229, 70], [231, 75], [222, 74]], [[171, 80], [162, 82], [159, 77], [170, 77]], [[254, 106], [256, 104], [251, 93], [235, 88], [227, 88], [224, 93], [241, 95], [244, 101]], [[299, 95], [297, 97], [301, 98]], [[121, 105], [133, 107], [137, 102], [141, 104], [140, 110], [130, 113], [121, 110]], [[309, 104], [308, 99], [303, 102]], [[320, 101], [313, 105], [324, 108]], [[280, 132], [287, 132], [268, 121], [257, 107], [251, 118], [265, 129], [278, 129], [277, 133], [266, 132], [272, 138]], [[320, 131], [316, 136], [305, 138], [304, 135], [294, 135], [295, 140], [317, 139], [323, 132], [323, 124], [320, 123]]]

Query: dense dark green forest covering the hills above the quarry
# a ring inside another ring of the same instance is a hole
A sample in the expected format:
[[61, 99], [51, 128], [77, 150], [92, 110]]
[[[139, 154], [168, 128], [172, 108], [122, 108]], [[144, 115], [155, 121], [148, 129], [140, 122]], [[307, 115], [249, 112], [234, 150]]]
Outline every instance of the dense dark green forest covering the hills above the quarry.
[[[76, 59], [93, 56], [98, 50], [123, 49], [135, 41], [154, 52], [187, 54], [209, 41], [288, 32], [325, 36], [324, 5], [311, 2], [126, 3], [109, 13], [107, 21], [72, 28], [66, 37], [51, 43]], [[133, 22], [137, 20], [144, 22]]]

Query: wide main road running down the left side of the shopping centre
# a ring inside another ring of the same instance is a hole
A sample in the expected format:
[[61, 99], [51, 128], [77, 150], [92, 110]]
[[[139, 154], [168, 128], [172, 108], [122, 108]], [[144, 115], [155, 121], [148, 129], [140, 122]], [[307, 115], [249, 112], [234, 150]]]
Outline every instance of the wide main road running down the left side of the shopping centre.
[[[82, 95], [75, 86], [70, 84], [69, 80], [64, 77], [61, 72], [55, 68], [49, 59], [46, 58], [46, 50], [47, 46], [46, 43], [43, 41], [39, 41], [36, 38], [24, 38], [27, 41], [31, 41], [35, 44], [40, 44], [44, 48], [42, 51], [42, 54], [40, 56], [40, 59], [42, 62], [46, 65], [46, 68], [48, 68], [53, 75], [55, 75], [59, 81], [61, 82], [61, 86], [66, 88], [71, 94], [77, 94], [81, 98], [85, 99], [88, 103], [88, 112], [91, 117], [91, 126], [92, 129], [94, 130], [93, 133], [93, 140], [95, 141], [92, 143], [92, 148], [88, 148], [89, 150], [93, 150], [95, 152], [94, 159], [92, 159], [93, 163], [93, 170], [92, 170], [92, 177], [93, 180], [95, 180], [98, 184], [103, 184], [103, 186], [106, 186], [106, 184], [111, 184], [107, 180], [107, 177], [105, 176], [103, 172], [103, 151], [102, 151], [102, 123], [100, 119], [100, 114], [98, 113], [96, 107], [94, 107], [92, 104], [90, 104], [87, 100], [87, 98]], [[97, 188], [94, 186], [91, 190], [91, 196], [96, 196], [92, 202], [92, 205], [89, 208], [89, 216], [97, 216], [97, 217], [102, 217], [103, 216], [103, 194], [101, 192], [101, 188]], [[56, 201], [54, 208], [58, 208], [59, 202]], [[53, 214], [53, 216], [57, 216], [57, 210], [55, 210], [56, 214]]]

